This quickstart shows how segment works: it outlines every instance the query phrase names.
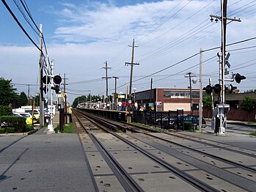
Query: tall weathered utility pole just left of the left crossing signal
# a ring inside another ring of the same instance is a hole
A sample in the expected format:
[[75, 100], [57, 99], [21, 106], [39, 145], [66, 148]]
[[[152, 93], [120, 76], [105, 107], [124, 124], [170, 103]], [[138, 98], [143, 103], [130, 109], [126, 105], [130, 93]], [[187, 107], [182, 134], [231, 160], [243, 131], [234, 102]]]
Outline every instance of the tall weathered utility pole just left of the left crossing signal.
[[40, 30], [40, 53], [39, 53], [39, 67], [40, 67], [40, 94], [39, 94], [39, 100], [40, 100], [40, 128], [43, 128], [44, 125], [44, 103], [43, 103], [43, 25], [40, 24], [39, 26]]

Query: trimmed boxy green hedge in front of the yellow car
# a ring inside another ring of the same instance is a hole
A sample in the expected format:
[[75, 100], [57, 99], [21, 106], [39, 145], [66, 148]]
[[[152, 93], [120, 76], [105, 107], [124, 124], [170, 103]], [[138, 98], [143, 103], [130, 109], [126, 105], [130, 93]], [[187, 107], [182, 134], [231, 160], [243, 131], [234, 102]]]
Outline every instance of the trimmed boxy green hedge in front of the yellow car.
[[15, 116], [0, 117], [1, 128], [15, 128], [15, 132], [23, 132], [25, 130], [26, 118]]

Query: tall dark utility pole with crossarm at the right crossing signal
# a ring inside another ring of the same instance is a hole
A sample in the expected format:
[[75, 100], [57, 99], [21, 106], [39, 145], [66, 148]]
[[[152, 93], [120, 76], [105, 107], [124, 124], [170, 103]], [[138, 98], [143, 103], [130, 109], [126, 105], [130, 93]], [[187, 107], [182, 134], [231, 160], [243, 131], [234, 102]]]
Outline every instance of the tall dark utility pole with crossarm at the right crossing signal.
[[222, 87], [221, 92], [219, 94], [219, 106], [217, 106], [216, 111], [214, 114], [218, 114], [218, 125], [219, 135], [224, 135], [225, 129], [227, 127], [227, 108], [229, 109], [228, 105], [224, 105], [225, 103], [225, 64], [226, 64], [226, 29], [227, 29], [227, 21], [238, 21], [241, 22], [241, 20], [238, 18], [227, 18], [227, 0], [221, 1], [221, 12], [222, 15], [210, 15], [211, 21], [213, 21], [213, 18], [216, 18], [215, 21], [218, 20], [222, 21], [222, 46], [221, 46], [221, 52], [218, 53], [219, 56], [219, 84]]

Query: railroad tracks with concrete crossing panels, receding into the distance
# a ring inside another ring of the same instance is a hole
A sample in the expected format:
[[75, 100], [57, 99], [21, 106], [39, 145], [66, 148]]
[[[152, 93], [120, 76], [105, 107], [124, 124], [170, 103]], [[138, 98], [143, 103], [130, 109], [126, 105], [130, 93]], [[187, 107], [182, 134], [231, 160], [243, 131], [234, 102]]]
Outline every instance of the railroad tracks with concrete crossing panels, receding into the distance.
[[75, 114], [98, 191], [255, 191], [255, 138], [161, 132]]

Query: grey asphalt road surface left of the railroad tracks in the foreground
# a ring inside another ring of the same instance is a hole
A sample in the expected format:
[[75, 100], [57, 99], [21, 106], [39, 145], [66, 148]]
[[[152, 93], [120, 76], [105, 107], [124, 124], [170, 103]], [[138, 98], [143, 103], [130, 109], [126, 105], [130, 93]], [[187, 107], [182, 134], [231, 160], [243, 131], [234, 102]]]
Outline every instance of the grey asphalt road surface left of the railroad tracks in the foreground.
[[0, 137], [0, 191], [95, 191], [77, 134]]

